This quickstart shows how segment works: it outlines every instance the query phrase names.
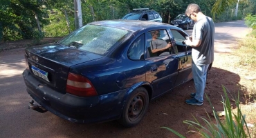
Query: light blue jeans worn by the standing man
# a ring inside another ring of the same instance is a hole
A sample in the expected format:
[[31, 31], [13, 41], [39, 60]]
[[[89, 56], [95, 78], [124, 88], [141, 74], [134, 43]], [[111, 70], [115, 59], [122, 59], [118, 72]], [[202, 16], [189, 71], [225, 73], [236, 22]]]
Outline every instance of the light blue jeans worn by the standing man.
[[205, 89], [208, 67], [209, 64], [197, 66], [194, 64], [194, 62], [192, 62], [192, 74], [194, 79], [194, 86], [196, 88], [196, 96], [194, 98], [200, 102], [203, 102], [203, 93]]

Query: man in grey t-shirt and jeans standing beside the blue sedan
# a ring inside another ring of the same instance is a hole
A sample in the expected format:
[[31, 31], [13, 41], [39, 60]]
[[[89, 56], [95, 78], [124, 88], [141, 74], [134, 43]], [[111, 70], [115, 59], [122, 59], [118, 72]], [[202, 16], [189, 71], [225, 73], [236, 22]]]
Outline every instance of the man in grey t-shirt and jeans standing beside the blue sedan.
[[188, 5], [185, 14], [196, 22], [192, 37], [185, 41], [186, 45], [192, 47], [192, 73], [196, 92], [191, 93], [192, 99], [185, 100], [185, 103], [201, 106], [208, 67], [214, 59], [214, 22], [194, 3]]

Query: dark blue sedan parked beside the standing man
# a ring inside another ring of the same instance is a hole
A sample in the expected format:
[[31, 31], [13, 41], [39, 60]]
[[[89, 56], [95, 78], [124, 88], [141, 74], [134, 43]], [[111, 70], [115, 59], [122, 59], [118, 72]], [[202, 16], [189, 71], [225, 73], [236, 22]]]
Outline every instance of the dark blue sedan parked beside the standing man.
[[[152, 52], [152, 32], [172, 43]], [[95, 21], [57, 43], [27, 48], [23, 72], [29, 107], [68, 121], [138, 124], [149, 101], [192, 79], [181, 28], [152, 21]], [[166, 51], [165, 51], [166, 52]], [[41, 105], [41, 106], [40, 106]]]

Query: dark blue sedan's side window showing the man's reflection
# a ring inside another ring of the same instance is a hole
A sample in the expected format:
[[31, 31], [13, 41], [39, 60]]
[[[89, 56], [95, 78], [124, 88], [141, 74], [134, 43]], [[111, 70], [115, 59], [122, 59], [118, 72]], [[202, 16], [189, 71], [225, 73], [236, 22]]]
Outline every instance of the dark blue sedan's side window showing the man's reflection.
[[[154, 35], [158, 35], [156, 40], [152, 40]], [[166, 30], [152, 30], [152, 31], [146, 32], [146, 39], [147, 39], [146, 41], [147, 42], [146, 43], [147, 58], [172, 54], [170, 49], [167, 49], [161, 52], [152, 52], [153, 49], [164, 48], [165, 46], [167, 46], [167, 43], [171, 41]]]

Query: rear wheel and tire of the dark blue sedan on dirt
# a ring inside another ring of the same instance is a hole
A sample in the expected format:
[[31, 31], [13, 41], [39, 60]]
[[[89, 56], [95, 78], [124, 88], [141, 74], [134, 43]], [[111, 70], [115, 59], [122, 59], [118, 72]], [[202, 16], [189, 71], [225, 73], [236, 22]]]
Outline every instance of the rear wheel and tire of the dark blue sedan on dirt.
[[118, 122], [125, 127], [136, 126], [145, 116], [149, 106], [149, 95], [145, 88], [136, 88], [127, 98]]

